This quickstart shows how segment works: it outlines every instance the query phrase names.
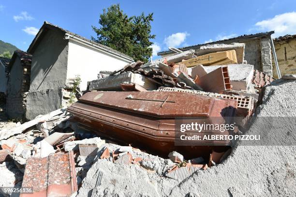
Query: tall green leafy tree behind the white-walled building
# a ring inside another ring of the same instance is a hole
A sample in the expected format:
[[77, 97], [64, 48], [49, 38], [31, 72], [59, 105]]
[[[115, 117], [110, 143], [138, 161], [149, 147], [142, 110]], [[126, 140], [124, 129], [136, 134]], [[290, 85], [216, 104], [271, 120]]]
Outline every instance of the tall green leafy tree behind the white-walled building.
[[151, 35], [151, 21], [153, 13], [128, 17], [120, 10], [119, 4], [114, 4], [107, 10], [104, 9], [100, 15], [100, 28], [92, 26], [97, 38], [91, 39], [116, 49], [135, 61], [147, 62], [152, 55], [152, 48], [149, 46], [153, 43], [150, 39], [155, 38], [155, 35]]

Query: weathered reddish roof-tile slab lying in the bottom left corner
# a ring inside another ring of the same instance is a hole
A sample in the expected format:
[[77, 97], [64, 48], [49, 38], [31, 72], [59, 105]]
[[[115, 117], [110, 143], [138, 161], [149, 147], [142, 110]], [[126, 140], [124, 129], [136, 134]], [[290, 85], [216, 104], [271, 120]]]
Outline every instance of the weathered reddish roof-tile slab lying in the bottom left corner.
[[69, 197], [77, 191], [73, 152], [55, 153], [27, 160], [22, 187], [33, 187], [33, 194], [21, 197]]

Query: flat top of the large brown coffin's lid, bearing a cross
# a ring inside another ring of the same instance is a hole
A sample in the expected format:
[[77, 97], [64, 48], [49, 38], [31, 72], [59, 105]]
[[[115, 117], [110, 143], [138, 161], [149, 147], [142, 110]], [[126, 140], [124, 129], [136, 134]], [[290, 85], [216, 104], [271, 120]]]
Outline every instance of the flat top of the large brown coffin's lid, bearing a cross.
[[[168, 96], [167, 102], [163, 105], [165, 107], [161, 108], [164, 100]], [[156, 102], [154, 100], [162, 102]], [[214, 98], [191, 95], [183, 92], [92, 91], [80, 97], [79, 102], [70, 106], [68, 110], [71, 111], [75, 106], [81, 106], [83, 103], [90, 103], [95, 106], [106, 106], [162, 118], [221, 117], [221, 109], [227, 106], [228, 101], [223, 101], [225, 105], [222, 106], [217, 106], [215, 104], [216, 101], [217, 100]]]

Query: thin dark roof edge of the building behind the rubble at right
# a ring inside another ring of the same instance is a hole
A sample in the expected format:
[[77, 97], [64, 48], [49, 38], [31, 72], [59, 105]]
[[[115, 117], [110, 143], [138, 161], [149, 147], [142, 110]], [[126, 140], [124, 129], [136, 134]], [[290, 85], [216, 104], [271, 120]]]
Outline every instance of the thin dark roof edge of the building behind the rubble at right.
[[[186, 46], [186, 47], [181, 47], [181, 48], [178, 48], [178, 49], [180, 49], [181, 51], [187, 51], [187, 50], [190, 50], [190, 49], [199, 48], [199, 47], [201, 47], [203, 45], [214, 45], [214, 44], [222, 44], [222, 43], [225, 43], [225, 42], [231, 43], [231, 42], [238, 42], [239, 40], [256, 39], [256, 38], [269, 36], [269, 35], [271, 35], [273, 33], [274, 33], [274, 31], [267, 31], [267, 32], [261, 32], [261, 33], [249, 34], [249, 35], [244, 34], [244, 35], [237, 36], [235, 38], [229, 38], [229, 39], [225, 39], [225, 40], [219, 40], [219, 41], [215, 41], [215, 42], [211, 42], [211, 43], [205, 43], [205, 44], [199, 44], [199, 45]], [[158, 52], [157, 55], [166, 55], [166, 54], [171, 54], [171, 53], [173, 53], [173, 52], [168, 50], [168, 51]]]

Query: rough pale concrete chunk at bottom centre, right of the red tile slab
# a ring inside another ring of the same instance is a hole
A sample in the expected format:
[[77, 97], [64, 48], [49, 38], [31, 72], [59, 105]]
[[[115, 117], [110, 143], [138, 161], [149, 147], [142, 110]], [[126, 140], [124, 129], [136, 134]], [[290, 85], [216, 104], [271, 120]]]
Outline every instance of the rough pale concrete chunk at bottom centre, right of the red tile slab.
[[[103, 172], [103, 176], [101, 185], [96, 187], [99, 172]], [[98, 196], [160, 196], [157, 186], [150, 182], [148, 172], [143, 168], [137, 165], [117, 165], [104, 159], [90, 167], [77, 197], [90, 196], [94, 189], [97, 189]]]

